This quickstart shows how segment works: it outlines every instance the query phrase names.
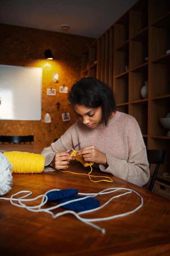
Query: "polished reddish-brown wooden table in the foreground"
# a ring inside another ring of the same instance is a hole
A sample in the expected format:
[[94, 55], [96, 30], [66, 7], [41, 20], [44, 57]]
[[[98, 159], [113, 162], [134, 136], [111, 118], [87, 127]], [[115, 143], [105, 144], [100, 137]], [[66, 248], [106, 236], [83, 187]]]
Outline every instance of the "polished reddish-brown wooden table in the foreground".
[[[1, 147], [2, 148], [2, 145]], [[20, 150], [20, 147], [19, 147]], [[40, 149], [41, 151], [42, 149]], [[35, 153], [35, 152], [34, 152]], [[40, 152], [39, 152], [40, 153]], [[68, 171], [88, 173], [79, 162], [73, 161]], [[40, 174], [13, 174], [9, 198], [18, 191], [32, 191], [30, 198], [50, 189], [78, 189], [80, 193], [97, 193], [106, 188], [122, 187], [137, 191], [144, 205], [137, 212], [108, 221], [94, 222], [106, 229], [97, 229], [68, 214], [52, 219], [47, 213], [33, 213], [0, 200], [0, 255], [1, 256], [152, 256], [170, 255], [170, 200], [118, 177], [93, 168], [93, 175], [111, 177], [113, 183], [94, 183], [88, 176], [60, 171]], [[97, 197], [101, 205], [110, 198]], [[55, 205], [48, 203], [47, 206]], [[130, 211], [140, 204], [135, 194], [113, 200], [101, 211], [84, 217], [106, 217]], [[55, 210], [64, 211], [63, 209]]]

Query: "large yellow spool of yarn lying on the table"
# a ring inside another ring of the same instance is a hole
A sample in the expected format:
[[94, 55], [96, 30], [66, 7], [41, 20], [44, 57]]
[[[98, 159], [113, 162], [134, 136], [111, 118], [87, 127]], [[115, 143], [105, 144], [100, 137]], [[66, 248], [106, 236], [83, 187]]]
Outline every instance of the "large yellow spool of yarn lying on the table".
[[13, 165], [12, 173], [42, 173], [45, 158], [40, 154], [11, 151], [4, 152], [8, 161]]

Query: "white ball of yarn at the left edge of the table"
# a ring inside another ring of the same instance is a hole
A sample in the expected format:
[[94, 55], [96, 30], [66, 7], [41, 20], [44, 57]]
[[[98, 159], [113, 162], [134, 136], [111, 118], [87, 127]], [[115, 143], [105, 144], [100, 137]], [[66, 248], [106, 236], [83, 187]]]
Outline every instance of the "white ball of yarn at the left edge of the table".
[[12, 164], [0, 153], [0, 195], [7, 194], [12, 187]]

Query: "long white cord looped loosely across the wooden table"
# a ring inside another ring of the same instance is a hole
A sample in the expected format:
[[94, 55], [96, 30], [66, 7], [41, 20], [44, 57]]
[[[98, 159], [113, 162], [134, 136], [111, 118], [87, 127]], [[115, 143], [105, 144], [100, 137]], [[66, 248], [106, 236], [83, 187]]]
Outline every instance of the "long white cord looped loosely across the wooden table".
[[[104, 190], [100, 191], [99, 193], [78, 193], [78, 195], [86, 195], [86, 196], [83, 197], [83, 198], [69, 200], [69, 201], [64, 202], [62, 204], [57, 204], [57, 205], [55, 205], [53, 207], [49, 207], [49, 208], [45, 208], [45, 209], [43, 208], [42, 209], [41, 207], [44, 206], [46, 204], [47, 200], [48, 200], [48, 197], [47, 197], [46, 194], [51, 192], [51, 191], [60, 191], [60, 189], [51, 189], [51, 190], [47, 191], [44, 195], [39, 195], [39, 196], [37, 196], [35, 198], [31, 198], [31, 199], [26, 199], [26, 197], [28, 197], [29, 195], [32, 194], [31, 191], [20, 191], [18, 193], [15, 193], [15, 194], [11, 195], [11, 198], [0, 198], [0, 199], [2, 199], [2, 200], [10, 200], [11, 204], [13, 204], [13, 205], [15, 205], [17, 207], [25, 208], [28, 211], [49, 213], [52, 216], [53, 219], [58, 218], [60, 216], [63, 216], [64, 214], [68, 214], [68, 213], [73, 214], [78, 220], [86, 223], [87, 225], [90, 225], [90, 226], [94, 227], [95, 229], [98, 229], [99, 231], [102, 232], [102, 234], [105, 234], [105, 229], [101, 228], [101, 227], [99, 227], [99, 226], [97, 226], [97, 225], [95, 225], [95, 224], [93, 224], [91, 222], [111, 220], [111, 219], [127, 216], [129, 214], [132, 214], [132, 213], [135, 213], [136, 211], [138, 211], [143, 206], [143, 203], [144, 203], [143, 198], [141, 197], [141, 195], [139, 195], [139, 193], [137, 193], [136, 191], [134, 191], [132, 189], [108, 188], [108, 189], [104, 189]], [[63, 211], [63, 212], [60, 212], [60, 213], [57, 213], [57, 214], [54, 214], [52, 212], [52, 210], [57, 209], [59, 207], [62, 207], [63, 205], [69, 204], [71, 202], [76, 202], [76, 201], [84, 200], [84, 199], [90, 198], [90, 197], [93, 198], [93, 197], [96, 197], [97, 195], [104, 195], [104, 194], [114, 193], [116, 191], [126, 191], [126, 192], [125, 193], [121, 193], [119, 195], [113, 196], [106, 203], [104, 203], [102, 206], [97, 207], [95, 209], [91, 209], [91, 210], [87, 210], [87, 211], [82, 211], [82, 212], [79, 212], [79, 213], [76, 213], [75, 211], [71, 211], [71, 210], [66, 210], [66, 211]], [[19, 195], [20, 193], [27, 193], [27, 194], [21, 196], [20, 198], [14, 198], [16, 195]], [[133, 209], [131, 211], [128, 211], [126, 213], [120, 213], [120, 214], [117, 214], [117, 215], [114, 215], [114, 216], [104, 217], [104, 218], [91, 218], [91, 219], [88, 219], [88, 218], [82, 218], [80, 216], [81, 214], [90, 213], [90, 212], [102, 209], [108, 203], [110, 203], [111, 200], [113, 200], [115, 198], [118, 198], [118, 197], [121, 197], [123, 195], [128, 195], [130, 193], [135, 193], [140, 198], [140, 200], [141, 200], [139, 206], [137, 206], [135, 209]], [[37, 200], [39, 198], [42, 198], [42, 201], [40, 202], [40, 204], [38, 204], [36, 206], [27, 206], [26, 204], [23, 203], [23, 202], [35, 201], [35, 200]], [[15, 201], [17, 201], [18, 203], [15, 203]]]

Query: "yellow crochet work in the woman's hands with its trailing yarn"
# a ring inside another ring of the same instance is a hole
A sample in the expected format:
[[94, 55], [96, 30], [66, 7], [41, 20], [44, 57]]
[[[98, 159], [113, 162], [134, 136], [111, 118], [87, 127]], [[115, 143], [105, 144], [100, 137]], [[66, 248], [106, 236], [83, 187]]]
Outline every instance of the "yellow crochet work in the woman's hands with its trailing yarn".
[[[90, 166], [91, 167], [91, 171], [86, 174], [86, 173], [74, 173], [74, 174], [78, 174], [78, 175], [87, 175], [89, 177], [89, 179], [92, 181], [92, 182], [101, 182], [101, 181], [106, 181], [106, 182], [113, 182], [113, 180], [110, 178], [110, 177], [106, 177], [106, 176], [95, 176], [95, 175], [91, 175], [91, 172], [93, 171], [93, 168], [92, 168], [92, 165], [94, 164], [93, 162], [88, 162], [88, 161], [84, 161], [84, 158], [83, 158], [83, 155], [77, 155], [77, 156], [74, 156], [77, 152], [79, 151], [76, 151], [72, 148], [73, 152], [71, 153], [71, 157], [74, 157], [74, 159], [76, 159], [77, 161], [81, 162], [83, 164], [84, 167], [88, 167]], [[68, 168], [68, 166], [66, 167]], [[64, 168], [64, 170], [66, 169]], [[61, 170], [60, 170], [61, 171]], [[70, 171], [63, 171], [63, 172], [66, 172], [66, 173], [73, 173], [73, 172], [70, 172]], [[99, 177], [99, 178], [106, 178], [108, 180], [92, 180], [91, 177]]]

